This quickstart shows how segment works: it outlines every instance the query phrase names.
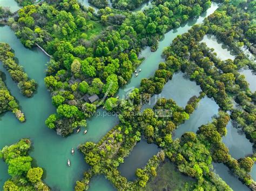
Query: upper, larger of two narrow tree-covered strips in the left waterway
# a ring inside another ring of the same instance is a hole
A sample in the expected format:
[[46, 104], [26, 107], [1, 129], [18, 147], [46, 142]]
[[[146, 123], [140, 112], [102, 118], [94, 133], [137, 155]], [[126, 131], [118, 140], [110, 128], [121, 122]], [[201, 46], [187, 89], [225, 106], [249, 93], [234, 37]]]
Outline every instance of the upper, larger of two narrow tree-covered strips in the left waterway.
[[18, 83], [21, 93], [26, 97], [31, 97], [36, 91], [36, 81], [29, 79], [23, 67], [16, 63], [15, 54], [11, 52], [11, 47], [6, 43], [0, 43], [0, 60], [9, 72], [11, 79]]

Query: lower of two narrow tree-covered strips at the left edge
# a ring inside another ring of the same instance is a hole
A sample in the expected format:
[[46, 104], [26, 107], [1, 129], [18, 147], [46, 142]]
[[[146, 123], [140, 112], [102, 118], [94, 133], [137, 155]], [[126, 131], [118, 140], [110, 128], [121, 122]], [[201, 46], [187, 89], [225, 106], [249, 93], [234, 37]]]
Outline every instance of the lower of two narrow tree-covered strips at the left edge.
[[3, 73], [0, 71], [0, 114], [11, 111], [21, 122], [25, 121], [25, 116], [21, 110], [15, 98], [11, 95], [8, 88], [3, 81]]

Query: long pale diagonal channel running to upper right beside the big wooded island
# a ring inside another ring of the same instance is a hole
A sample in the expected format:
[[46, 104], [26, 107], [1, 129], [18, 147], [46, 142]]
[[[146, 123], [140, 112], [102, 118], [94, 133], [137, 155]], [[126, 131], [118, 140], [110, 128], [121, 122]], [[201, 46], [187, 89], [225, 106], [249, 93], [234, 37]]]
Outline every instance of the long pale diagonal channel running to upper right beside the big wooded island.
[[139, 87], [140, 81], [143, 78], [149, 78], [153, 76], [154, 71], [158, 69], [159, 63], [164, 62], [164, 59], [161, 57], [164, 48], [169, 46], [172, 43], [172, 40], [177, 37], [177, 35], [181, 35], [187, 32], [194, 24], [203, 23], [204, 18], [211, 15], [217, 8], [218, 5], [212, 3], [211, 8], [204, 12], [199, 18], [190, 19], [190, 21], [188, 21], [186, 24], [181, 25], [178, 29], [167, 32], [164, 36], [164, 39], [159, 42], [157, 51], [147, 54], [144, 62], [138, 67], [138, 69], [142, 69], [139, 75], [137, 77], [133, 75], [131, 80], [124, 87], [119, 89], [117, 94], [120, 96], [120, 98], [125, 98], [127, 92], [130, 92], [135, 87]]

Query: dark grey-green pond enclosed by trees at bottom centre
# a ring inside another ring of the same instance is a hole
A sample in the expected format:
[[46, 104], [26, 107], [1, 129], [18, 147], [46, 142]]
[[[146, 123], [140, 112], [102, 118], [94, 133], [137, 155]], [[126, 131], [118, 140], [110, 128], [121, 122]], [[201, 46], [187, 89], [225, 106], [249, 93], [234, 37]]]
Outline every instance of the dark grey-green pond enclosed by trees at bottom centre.
[[136, 169], [144, 167], [147, 161], [159, 151], [157, 145], [147, 144], [145, 139], [140, 140], [132, 149], [130, 155], [124, 159], [124, 163], [118, 167], [120, 174], [125, 176], [128, 181], [135, 180], [137, 178]]

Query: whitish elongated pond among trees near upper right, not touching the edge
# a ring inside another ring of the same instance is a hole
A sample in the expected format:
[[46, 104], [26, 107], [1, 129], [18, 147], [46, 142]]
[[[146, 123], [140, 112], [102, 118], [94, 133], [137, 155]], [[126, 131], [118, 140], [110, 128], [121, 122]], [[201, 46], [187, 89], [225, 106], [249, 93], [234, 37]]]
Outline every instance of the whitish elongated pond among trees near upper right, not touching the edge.
[[230, 49], [228, 49], [225, 44], [217, 40], [216, 37], [213, 35], [205, 35], [203, 40], [201, 40], [201, 43], [206, 43], [208, 47], [214, 49], [214, 52], [217, 53], [217, 57], [219, 57], [221, 60], [233, 60], [235, 58], [234, 54], [231, 53]]

